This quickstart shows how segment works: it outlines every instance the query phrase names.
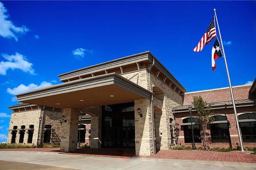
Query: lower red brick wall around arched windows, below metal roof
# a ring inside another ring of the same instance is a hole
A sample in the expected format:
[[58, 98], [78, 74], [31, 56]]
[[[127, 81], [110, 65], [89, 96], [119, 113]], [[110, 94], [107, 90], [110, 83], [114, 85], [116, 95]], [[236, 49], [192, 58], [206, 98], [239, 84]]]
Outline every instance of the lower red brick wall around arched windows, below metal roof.
[[[229, 128], [229, 132], [230, 135], [238, 135], [237, 129], [236, 129], [236, 120], [235, 120], [235, 115], [234, 115], [234, 111], [233, 108], [226, 108], [226, 109], [216, 109], [213, 110], [214, 114], [226, 114], [227, 116], [227, 120], [230, 122], [230, 128]], [[256, 106], [250, 106], [250, 107], [238, 107], [236, 108], [237, 113], [246, 113], [246, 112], [256, 112]], [[195, 112], [192, 112], [192, 116], [195, 115]], [[175, 113], [175, 122], [176, 123], [182, 123], [182, 118], [183, 117], [187, 117], [189, 116], [189, 112], [185, 112], [185, 113]], [[181, 126], [179, 125], [177, 127], [177, 134], [178, 134], [178, 141], [177, 144], [178, 145], [185, 145], [185, 146], [191, 146], [191, 143], [186, 143], [184, 142], [184, 138], [181, 138], [180, 136], [184, 136], [184, 132], [183, 130], [181, 130]], [[208, 141], [209, 141], [209, 147], [210, 148], [214, 148], [214, 147], [224, 147], [224, 148], [228, 148], [228, 147], [233, 147], [236, 148], [237, 144], [239, 144], [239, 138], [238, 137], [231, 137], [230, 136], [230, 143], [212, 143], [211, 142], [211, 136], [210, 136], [210, 130], [207, 130], [207, 133], [209, 133]], [[203, 132], [201, 130], [201, 135], [203, 135]], [[202, 139], [203, 140], [203, 139]], [[199, 143], [199, 144], [195, 144], [196, 147], [204, 147], [203, 146], [203, 142]], [[244, 143], [244, 147], [256, 147], [256, 143]]]

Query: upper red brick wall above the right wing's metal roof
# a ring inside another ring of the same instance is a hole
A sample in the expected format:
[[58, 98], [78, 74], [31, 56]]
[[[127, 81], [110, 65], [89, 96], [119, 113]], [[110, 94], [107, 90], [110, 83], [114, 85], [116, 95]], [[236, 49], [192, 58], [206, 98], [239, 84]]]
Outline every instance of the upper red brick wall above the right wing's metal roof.
[[[251, 85], [234, 87], [233, 94], [235, 99], [248, 99], [250, 87]], [[191, 104], [193, 102], [193, 96], [199, 96], [199, 95], [202, 96], [202, 98], [206, 102], [220, 102], [220, 101], [231, 100], [230, 89], [226, 88], [221, 90], [185, 94], [183, 105]]]

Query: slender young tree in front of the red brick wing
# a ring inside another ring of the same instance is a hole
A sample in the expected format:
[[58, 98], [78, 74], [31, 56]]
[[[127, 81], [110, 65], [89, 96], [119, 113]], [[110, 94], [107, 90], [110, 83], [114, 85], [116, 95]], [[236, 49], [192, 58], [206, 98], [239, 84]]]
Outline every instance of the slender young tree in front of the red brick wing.
[[201, 125], [204, 132], [204, 146], [208, 150], [206, 130], [209, 124], [213, 121], [213, 112], [210, 110], [212, 107], [210, 104], [207, 104], [201, 96], [193, 96], [194, 108], [197, 111], [196, 118], [198, 119], [199, 124]]

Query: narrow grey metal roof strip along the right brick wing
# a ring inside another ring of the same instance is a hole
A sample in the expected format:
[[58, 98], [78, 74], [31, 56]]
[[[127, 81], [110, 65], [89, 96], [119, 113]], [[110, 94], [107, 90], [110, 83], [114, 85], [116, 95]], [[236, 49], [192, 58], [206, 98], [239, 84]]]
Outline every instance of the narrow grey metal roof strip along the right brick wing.
[[[211, 109], [221, 109], [221, 108], [233, 108], [232, 101], [222, 101], [222, 102], [211, 102], [208, 103], [212, 106]], [[256, 99], [239, 99], [235, 100], [236, 107], [242, 107], [242, 106], [254, 106], [256, 105]], [[189, 111], [188, 107], [190, 105], [183, 105], [183, 106], [178, 106], [176, 108], [172, 108], [175, 113], [179, 112], [187, 112]], [[192, 111], [194, 110], [194, 105], [192, 106]]]

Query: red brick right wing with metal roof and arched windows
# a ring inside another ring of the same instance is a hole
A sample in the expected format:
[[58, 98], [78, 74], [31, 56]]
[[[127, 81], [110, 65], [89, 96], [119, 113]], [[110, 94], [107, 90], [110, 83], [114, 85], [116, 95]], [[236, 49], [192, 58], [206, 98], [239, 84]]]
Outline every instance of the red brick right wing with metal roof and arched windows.
[[[233, 94], [236, 103], [236, 111], [239, 117], [244, 147], [256, 146], [256, 80], [253, 85], [239, 85], [233, 87]], [[214, 121], [207, 127], [207, 141], [210, 148], [239, 146], [238, 131], [230, 97], [229, 88], [218, 88], [205, 91], [195, 91], [184, 94], [182, 106], [173, 108], [175, 114], [175, 131], [178, 134], [177, 145], [189, 145], [192, 142], [191, 121], [188, 106], [192, 105], [193, 96], [202, 96], [204, 101], [211, 104], [214, 113]], [[192, 116], [196, 112], [192, 109]], [[198, 120], [193, 118], [194, 139], [196, 147], [203, 147], [201, 136], [203, 130]]]

